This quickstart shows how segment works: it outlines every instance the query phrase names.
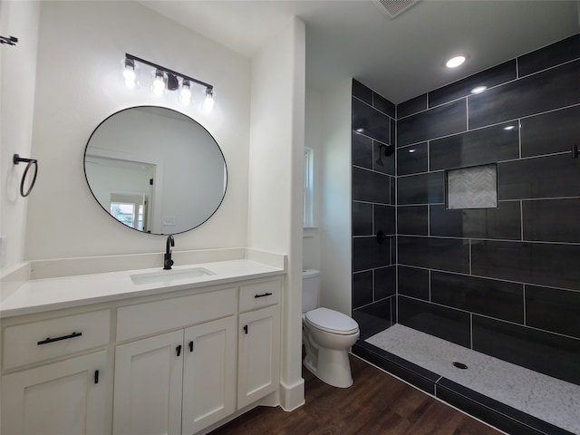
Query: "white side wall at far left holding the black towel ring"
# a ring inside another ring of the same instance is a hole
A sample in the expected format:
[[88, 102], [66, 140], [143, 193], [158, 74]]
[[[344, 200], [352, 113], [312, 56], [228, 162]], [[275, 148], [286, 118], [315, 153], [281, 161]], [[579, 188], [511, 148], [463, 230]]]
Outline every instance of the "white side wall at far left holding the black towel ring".
[[[0, 3], [0, 34], [18, 38], [2, 45], [0, 60], [0, 268], [24, 261], [28, 198], [19, 193], [24, 163], [14, 165], [14, 153], [35, 158], [32, 152], [34, 82], [39, 5], [36, 2]], [[41, 164], [41, 171], [43, 170]], [[36, 189], [36, 188], [35, 188]], [[32, 195], [36, 195], [34, 189]]]

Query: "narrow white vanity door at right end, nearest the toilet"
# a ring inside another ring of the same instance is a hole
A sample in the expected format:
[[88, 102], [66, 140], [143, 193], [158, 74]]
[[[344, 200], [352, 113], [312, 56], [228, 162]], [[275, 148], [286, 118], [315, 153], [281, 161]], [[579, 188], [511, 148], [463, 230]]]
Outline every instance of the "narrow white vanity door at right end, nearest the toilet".
[[280, 381], [280, 307], [239, 315], [237, 409], [277, 390]]

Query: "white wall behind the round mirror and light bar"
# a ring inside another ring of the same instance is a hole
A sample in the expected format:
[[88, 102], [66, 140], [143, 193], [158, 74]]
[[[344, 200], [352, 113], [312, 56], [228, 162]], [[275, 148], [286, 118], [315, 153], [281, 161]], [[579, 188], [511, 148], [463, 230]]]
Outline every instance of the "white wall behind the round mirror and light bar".
[[[5, 48], [3, 47], [3, 52]], [[214, 85], [211, 114], [177, 96], [131, 92], [121, 59], [131, 53]], [[176, 250], [247, 246], [250, 60], [136, 2], [43, 1], [26, 259], [160, 252], [165, 237], [115, 222], [92, 198], [82, 169], [87, 140], [111, 113], [161, 105], [201, 123], [227, 161], [227, 195], [201, 227], [176, 237]], [[235, 217], [235, 218], [233, 218]]]

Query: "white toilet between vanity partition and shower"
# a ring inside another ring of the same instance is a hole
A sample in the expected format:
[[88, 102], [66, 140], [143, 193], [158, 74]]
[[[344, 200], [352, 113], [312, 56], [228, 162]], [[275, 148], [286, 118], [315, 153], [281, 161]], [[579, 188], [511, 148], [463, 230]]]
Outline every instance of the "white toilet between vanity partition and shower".
[[347, 349], [359, 338], [353, 318], [328, 308], [318, 308], [318, 271], [302, 273], [302, 341], [306, 349], [304, 366], [334, 387], [353, 385]]

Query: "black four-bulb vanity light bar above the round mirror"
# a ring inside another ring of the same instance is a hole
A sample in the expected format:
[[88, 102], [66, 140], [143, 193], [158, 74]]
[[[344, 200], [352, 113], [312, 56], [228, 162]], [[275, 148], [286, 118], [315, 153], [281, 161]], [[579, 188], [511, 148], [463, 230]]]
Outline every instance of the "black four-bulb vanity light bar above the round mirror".
[[169, 70], [169, 68], [165, 68], [164, 66], [158, 65], [157, 63], [152, 63], [137, 56], [133, 56], [132, 54], [125, 53], [125, 59], [123, 61], [123, 79], [125, 81], [125, 85], [129, 89], [133, 89], [139, 84], [137, 81], [136, 71], [139, 63], [148, 65], [152, 68], [151, 91], [155, 95], [161, 96], [167, 92], [179, 90], [179, 101], [187, 105], [193, 102], [192, 85], [198, 84], [199, 86], [206, 88], [206, 99], [203, 103], [203, 109], [205, 111], [211, 111], [213, 109], [214, 87], [211, 84], [201, 82], [200, 80], [194, 79], [193, 77]]

